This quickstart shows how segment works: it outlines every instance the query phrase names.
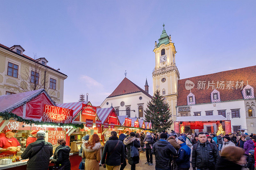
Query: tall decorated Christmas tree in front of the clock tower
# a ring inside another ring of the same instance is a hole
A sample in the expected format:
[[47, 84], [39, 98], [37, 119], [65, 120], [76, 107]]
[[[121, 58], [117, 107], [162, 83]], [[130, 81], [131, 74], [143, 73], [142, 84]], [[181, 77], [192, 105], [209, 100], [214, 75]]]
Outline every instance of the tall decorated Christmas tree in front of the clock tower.
[[145, 118], [146, 122], [152, 123], [152, 129], [161, 132], [170, 128], [172, 125], [170, 107], [168, 103], [164, 103], [164, 98], [160, 95], [159, 90], [156, 90], [152, 100], [147, 103], [147, 107], [144, 111]]

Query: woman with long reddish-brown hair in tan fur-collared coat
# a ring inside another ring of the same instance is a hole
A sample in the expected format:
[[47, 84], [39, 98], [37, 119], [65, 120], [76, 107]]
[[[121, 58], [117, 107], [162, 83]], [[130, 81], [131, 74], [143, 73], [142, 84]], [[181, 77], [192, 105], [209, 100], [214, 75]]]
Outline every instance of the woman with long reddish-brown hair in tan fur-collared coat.
[[93, 134], [89, 141], [83, 143], [83, 158], [85, 158], [84, 169], [85, 170], [99, 170], [99, 161], [101, 159], [100, 153], [100, 137], [97, 134]]

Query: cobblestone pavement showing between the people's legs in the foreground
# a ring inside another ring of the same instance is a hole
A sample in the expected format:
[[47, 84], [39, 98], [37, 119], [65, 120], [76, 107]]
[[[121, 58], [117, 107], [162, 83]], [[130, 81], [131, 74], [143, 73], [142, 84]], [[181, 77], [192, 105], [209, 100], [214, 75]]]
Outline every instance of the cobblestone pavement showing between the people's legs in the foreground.
[[[131, 169], [131, 165], [128, 164], [128, 160], [126, 160], [127, 165], [125, 166], [124, 170], [130, 170]], [[140, 163], [136, 164], [136, 170], [155, 170], [155, 155], [153, 155], [153, 165], [148, 166], [147, 164], [145, 164], [145, 162], [147, 162], [147, 158], [146, 158], [146, 153], [140, 153]], [[191, 170], [193, 170], [193, 168], [190, 167]], [[190, 170], [189, 169], [189, 170]], [[100, 170], [106, 170], [106, 168], [103, 168], [103, 166], [100, 166]]]

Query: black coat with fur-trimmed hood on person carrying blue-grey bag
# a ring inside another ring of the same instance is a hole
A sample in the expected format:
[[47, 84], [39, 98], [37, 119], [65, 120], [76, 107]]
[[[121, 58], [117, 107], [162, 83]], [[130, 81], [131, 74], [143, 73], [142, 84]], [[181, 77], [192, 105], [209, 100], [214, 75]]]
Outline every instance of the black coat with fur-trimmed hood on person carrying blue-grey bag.
[[[153, 140], [153, 138], [152, 138]], [[131, 157], [131, 146], [135, 146], [136, 148], [140, 147], [140, 141], [137, 140], [136, 137], [126, 137], [124, 139], [124, 144], [127, 147], [127, 158], [128, 158], [128, 163], [130, 165], [135, 165], [139, 163], [139, 156]]]

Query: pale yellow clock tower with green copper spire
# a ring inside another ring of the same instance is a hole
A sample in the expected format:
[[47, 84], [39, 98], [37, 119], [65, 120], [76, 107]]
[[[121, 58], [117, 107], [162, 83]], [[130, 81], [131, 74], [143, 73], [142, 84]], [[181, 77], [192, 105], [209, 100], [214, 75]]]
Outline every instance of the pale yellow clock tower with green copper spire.
[[[165, 29], [163, 29], [158, 43], [155, 42], [155, 49], [153, 51], [155, 52], [156, 60], [156, 66], [152, 73], [153, 91], [155, 92], [158, 89], [160, 94], [164, 96], [164, 101], [170, 106], [171, 119], [175, 121], [180, 73], [175, 63], [175, 54], [177, 52], [174, 43], [171, 40], [171, 35], [168, 36]], [[172, 124], [172, 130], [174, 130], [173, 127]]]

